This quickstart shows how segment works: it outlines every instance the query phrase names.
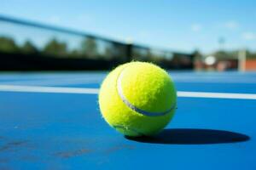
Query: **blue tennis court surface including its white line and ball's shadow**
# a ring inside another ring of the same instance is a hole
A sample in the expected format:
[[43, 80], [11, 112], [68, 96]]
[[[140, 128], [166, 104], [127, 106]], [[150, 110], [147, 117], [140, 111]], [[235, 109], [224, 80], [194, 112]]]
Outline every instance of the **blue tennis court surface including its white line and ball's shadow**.
[[106, 72], [2, 73], [0, 169], [255, 169], [256, 73], [171, 75], [172, 122], [127, 139], [98, 108]]

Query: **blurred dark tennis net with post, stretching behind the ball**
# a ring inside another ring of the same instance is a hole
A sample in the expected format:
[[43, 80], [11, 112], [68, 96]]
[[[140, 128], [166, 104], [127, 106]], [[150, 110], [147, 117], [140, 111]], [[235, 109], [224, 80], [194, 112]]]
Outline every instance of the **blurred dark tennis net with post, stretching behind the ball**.
[[193, 69], [193, 54], [116, 42], [55, 26], [0, 16], [0, 70], [109, 70], [142, 60]]

